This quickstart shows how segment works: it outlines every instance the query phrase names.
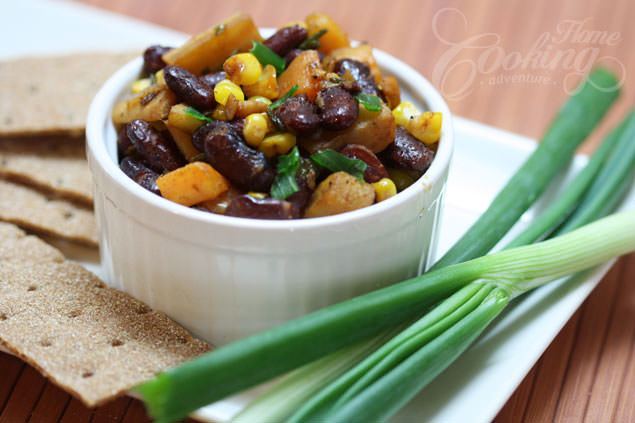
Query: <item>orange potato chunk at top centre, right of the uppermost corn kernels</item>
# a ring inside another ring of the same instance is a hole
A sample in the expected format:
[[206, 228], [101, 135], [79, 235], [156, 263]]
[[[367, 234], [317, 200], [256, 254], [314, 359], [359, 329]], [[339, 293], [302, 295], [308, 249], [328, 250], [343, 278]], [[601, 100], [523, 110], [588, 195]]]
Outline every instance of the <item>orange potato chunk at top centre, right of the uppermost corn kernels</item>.
[[306, 94], [311, 101], [320, 90], [320, 57], [315, 50], [305, 50], [293, 59], [278, 78], [280, 95], [287, 93], [294, 85], [298, 90], [294, 95]]

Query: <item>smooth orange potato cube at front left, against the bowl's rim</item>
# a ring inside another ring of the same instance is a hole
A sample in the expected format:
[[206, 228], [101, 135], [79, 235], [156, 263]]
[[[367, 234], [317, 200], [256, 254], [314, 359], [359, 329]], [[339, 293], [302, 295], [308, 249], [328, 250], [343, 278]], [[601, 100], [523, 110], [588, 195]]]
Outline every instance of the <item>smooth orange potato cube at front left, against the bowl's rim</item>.
[[175, 203], [192, 206], [212, 200], [230, 187], [216, 169], [204, 162], [193, 162], [157, 178], [161, 195]]

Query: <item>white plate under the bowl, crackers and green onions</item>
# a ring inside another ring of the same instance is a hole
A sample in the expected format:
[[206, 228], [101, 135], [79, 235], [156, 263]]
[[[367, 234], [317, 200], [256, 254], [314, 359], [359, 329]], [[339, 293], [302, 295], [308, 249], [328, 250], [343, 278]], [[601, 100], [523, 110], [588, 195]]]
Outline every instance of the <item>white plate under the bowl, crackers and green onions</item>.
[[[29, 16], [29, 19], [23, 19]], [[38, 54], [141, 49], [158, 42], [175, 45], [183, 34], [145, 22], [62, 1], [21, 0], [3, 8], [0, 27], [20, 34], [0, 45], [0, 60]], [[45, 36], [44, 36], [45, 35]], [[442, 216], [440, 253], [476, 220], [535, 147], [531, 139], [466, 119], [455, 119], [456, 151]], [[555, 198], [586, 163], [569, 169], [512, 229], [518, 233]], [[635, 209], [631, 189], [622, 209]], [[71, 258], [100, 274], [94, 252], [56, 243]], [[536, 360], [597, 285], [610, 265], [544, 286], [516, 301], [484, 336], [397, 416], [395, 422], [489, 422]], [[204, 407], [194, 417], [229, 421], [251, 393]]]

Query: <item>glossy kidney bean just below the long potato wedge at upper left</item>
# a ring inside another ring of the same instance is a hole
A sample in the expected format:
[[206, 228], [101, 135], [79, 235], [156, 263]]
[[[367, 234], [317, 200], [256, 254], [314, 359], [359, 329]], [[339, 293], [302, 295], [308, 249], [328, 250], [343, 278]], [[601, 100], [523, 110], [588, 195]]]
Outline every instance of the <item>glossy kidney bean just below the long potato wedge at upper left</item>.
[[166, 66], [163, 76], [168, 88], [185, 103], [195, 109], [205, 111], [216, 105], [214, 100], [214, 88], [201, 83], [190, 71], [180, 66]]

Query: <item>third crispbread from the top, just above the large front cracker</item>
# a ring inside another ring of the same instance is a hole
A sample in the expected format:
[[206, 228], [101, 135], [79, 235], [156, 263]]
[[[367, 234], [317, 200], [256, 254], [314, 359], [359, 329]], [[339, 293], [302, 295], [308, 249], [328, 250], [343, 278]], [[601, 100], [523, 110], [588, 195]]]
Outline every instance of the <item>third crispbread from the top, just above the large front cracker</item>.
[[5, 180], [0, 180], [0, 220], [89, 246], [99, 243], [91, 210]]

